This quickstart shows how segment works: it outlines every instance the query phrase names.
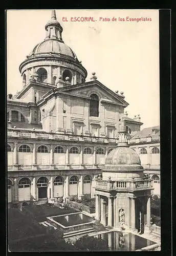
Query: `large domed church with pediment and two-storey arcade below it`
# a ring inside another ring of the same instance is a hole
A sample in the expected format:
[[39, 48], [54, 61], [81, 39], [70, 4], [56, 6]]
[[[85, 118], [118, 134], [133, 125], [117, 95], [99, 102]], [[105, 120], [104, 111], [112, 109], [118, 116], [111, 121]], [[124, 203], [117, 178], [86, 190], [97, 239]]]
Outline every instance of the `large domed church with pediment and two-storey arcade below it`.
[[[23, 88], [7, 97], [9, 203], [94, 197], [95, 176], [117, 145], [128, 105], [95, 72], [85, 81], [87, 71], [64, 44], [55, 11], [45, 30], [19, 66]], [[124, 121], [129, 135], [140, 131], [139, 116]]]

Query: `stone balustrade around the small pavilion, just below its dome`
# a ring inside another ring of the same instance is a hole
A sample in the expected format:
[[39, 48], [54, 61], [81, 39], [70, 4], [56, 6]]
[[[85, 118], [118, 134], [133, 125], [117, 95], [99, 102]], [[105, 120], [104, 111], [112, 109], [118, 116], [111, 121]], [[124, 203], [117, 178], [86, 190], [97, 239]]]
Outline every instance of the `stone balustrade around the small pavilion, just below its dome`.
[[143, 190], [152, 188], [152, 180], [140, 181], [112, 181], [112, 180], [95, 180], [95, 188], [103, 190]]

